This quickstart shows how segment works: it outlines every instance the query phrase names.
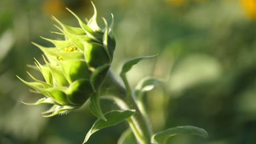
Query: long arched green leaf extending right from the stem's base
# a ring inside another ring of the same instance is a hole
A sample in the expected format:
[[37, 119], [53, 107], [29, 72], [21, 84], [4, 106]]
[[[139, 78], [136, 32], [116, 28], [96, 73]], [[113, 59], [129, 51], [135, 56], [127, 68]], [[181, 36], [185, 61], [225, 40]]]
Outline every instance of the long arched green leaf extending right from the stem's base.
[[160, 131], [151, 137], [151, 141], [152, 143], [154, 143], [155, 140], [156, 141], [167, 140], [169, 137], [172, 137], [175, 135], [182, 135], [182, 134], [199, 135], [199, 136], [208, 138], [208, 133], [206, 130], [188, 125], [188, 126], [175, 127], [175, 128], [170, 128], [164, 131]]

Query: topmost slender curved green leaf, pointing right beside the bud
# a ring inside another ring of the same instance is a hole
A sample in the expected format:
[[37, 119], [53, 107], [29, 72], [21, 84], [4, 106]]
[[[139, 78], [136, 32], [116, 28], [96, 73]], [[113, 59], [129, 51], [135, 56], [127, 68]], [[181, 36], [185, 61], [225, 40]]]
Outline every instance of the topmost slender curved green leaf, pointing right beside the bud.
[[156, 55], [137, 57], [137, 58], [130, 59], [129, 61], [125, 62], [125, 64], [123, 65], [123, 68], [121, 70], [120, 75], [123, 75], [123, 74], [127, 73], [127, 71], [129, 71], [132, 68], [133, 65], [137, 64], [138, 62], [142, 61], [143, 59], [152, 58], [152, 57], [155, 57], [155, 56]]

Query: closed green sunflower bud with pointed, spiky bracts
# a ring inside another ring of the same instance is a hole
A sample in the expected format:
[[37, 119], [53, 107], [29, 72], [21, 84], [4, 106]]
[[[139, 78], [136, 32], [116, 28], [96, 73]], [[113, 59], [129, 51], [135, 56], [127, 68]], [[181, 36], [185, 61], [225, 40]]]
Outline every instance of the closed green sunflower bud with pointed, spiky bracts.
[[[94, 16], [85, 24], [71, 10], [80, 27], [71, 27], [63, 24], [54, 16], [53, 19], [60, 25], [55, 26], [64, 40], [50, 41], [55, 47], [44, 47], [33, 43], [44, 52], [45, 64], [36, 60], [37, 69], [42, 73], [45, 81], [34, 78], [34, 82], [24, 82], [45, 98], [34, 104], [53, 104], [50, 110], [43, 112], [44, 117], [67, 113], [82, 106], [90, 97], [97, 97], [97, 93], [104, 82], [113, 59], [115, 38], [112, 24], [108, 27], [106, 20], [104, 29], [97, 25], [97, 11], [94, 6]], [[25, 103], [27, 104], [27, 103]]]

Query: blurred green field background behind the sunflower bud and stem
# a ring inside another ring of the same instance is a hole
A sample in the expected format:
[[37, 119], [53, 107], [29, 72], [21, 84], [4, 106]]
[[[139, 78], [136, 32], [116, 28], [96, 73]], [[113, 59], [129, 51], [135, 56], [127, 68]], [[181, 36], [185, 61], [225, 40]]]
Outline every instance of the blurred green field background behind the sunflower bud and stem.
[[[195, 125], [206, 129], [205, 140], [181, 135], [168, 143], [234, 144], [256, 141], [256, 1], [254, 0], [113, 0], [94, 1], [101, 16], [115, 17], [115, 74], [127, 59], [154, 55], [129, 72], [133, 86], [144, 76], [165, 81], [147, 93], [144, 102], [154, 131]], [[28, 91], [26, 64], [42, 52], [31, 44], [51, 46], [39, 35], [61, 38], [54, 15], [71, 26], [90, 18], [86, 0], [0, 1], [0, 143], [82, 143], [96, 120], [85, 104], [67, 116], [43, 118], [46, 106], [27, 106], [42, 95]], [[38, 77], [40, 75], [35, 72]], [[101, 101], [104, 112], [117, 109]], [[98, 131], [88, 143], [117, 143], [126, 123]]]

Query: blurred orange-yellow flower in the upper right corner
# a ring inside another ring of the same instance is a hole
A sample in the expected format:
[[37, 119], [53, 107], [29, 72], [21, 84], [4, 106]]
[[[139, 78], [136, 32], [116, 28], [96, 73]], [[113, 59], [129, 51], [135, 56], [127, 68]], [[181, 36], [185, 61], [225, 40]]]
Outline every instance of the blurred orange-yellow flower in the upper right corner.
[[246, 15], [256, 20], [256, 0], [241, 0], [241, 4]]

